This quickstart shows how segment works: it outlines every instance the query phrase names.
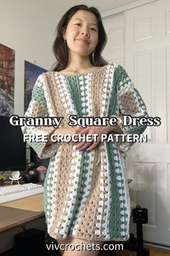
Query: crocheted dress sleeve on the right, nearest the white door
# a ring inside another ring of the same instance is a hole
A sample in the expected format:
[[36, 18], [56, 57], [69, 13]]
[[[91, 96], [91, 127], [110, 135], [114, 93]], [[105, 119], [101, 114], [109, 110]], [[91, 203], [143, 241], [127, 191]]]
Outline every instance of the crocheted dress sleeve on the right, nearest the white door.
[[[138, 90], [134, 88], [133, 82], [128, 77], [127, 72], [120, 65], [115, 69], [114, 74], [115, 87], [117, 88], [117, 103], [120, 115], [117, 116], [117, 124], [122, 129], [122, 132], [126, 135], [140, 135], [146, 129], [146, 126], [141, 126], [139, 121], [137, 125], [125, 126], [122, 123], [122, 116], [128, 115], [132, 117], [148, 117], [146, 105], [143, 102]], [[134, 144], [134, 142], [122, 142], [115, 143], [117, 148], [121, 151], [127, 151]]]

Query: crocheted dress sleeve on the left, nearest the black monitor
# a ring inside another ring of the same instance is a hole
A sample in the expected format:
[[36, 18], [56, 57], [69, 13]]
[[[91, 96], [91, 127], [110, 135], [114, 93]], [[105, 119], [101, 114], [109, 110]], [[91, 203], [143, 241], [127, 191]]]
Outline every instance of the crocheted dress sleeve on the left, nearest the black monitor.
[[[43, 74], [37, 78], [34, 88], [32, 90], [32, 99], [27, 108], [25, 117], [47, 117], [48, 108], [45, 99], [45, 80]], [[45, 135], [50, 136], [50, 134], [55, 130], [54, 127], [45, 126], [27, 126], [24, 124], [22, 127], [22, 132], [24, 135]], [[53, 144], [47, 145], [47, 142], [32, 142], [27, 140], [27, 143], [35, 150], [39, 158], [50, 158], [54, 155], [56, 150], [58, 150], [59, 143], [55, 142]]]

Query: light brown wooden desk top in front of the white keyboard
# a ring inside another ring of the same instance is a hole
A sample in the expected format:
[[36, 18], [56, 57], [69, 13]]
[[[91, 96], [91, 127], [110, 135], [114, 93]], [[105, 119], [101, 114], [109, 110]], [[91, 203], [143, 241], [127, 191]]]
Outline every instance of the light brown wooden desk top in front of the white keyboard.
[[45, 216], [43, 194], [0, 205], [0, 234]]

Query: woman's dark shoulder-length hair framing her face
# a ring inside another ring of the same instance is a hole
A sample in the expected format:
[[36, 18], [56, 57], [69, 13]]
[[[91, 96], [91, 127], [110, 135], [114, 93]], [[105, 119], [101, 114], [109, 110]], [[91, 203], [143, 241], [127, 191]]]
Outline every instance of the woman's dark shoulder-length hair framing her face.
[[55, 58], [57, 59], [57, 61], [55, 62], [55, 64], [53, 64], [53, 67], [51, 68], [53, 71], [61, 71], [63, 69], [66, 69], [66, 66], [68, 64], [68, 46], [66, 45], [66, 43], [64, 43], [63, 33], [64, 31], [66, 31], [68, 22], [71, 20], [73, 14], [75, 14], [79, 10], [92, 12], [97, 17], [99, 39], [96, 48], [89, 55], [91, 64], [96, 67], [102, 67], [107, 64], [107, 62], [104, 61], [101, 56], [101, 52], [107, 43], [107, 34], [104, 30], [100, 13], [94, 7], [87, 7], [86, 5], [81, 4], [71, 7], [71, 9], [68, 9], [66, 14], [63, 15], [61, 21], [58, 23], [58, 26], [56, 28], [57, 36], [53, 43], [53, 53], [55, 54]]

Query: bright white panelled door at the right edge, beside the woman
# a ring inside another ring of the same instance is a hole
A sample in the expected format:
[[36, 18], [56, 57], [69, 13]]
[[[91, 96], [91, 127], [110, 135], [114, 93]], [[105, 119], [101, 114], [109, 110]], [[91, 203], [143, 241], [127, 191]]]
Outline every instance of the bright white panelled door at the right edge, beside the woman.
[[145, 241], [170, 245], [170, 1], [154, 1], [124, 15], [125, 69], [149, 115], [161, 117], [160, 127], [146, 129], [148, 142], [136, 143], [128, 153], [130, 195], [148, 208]]

